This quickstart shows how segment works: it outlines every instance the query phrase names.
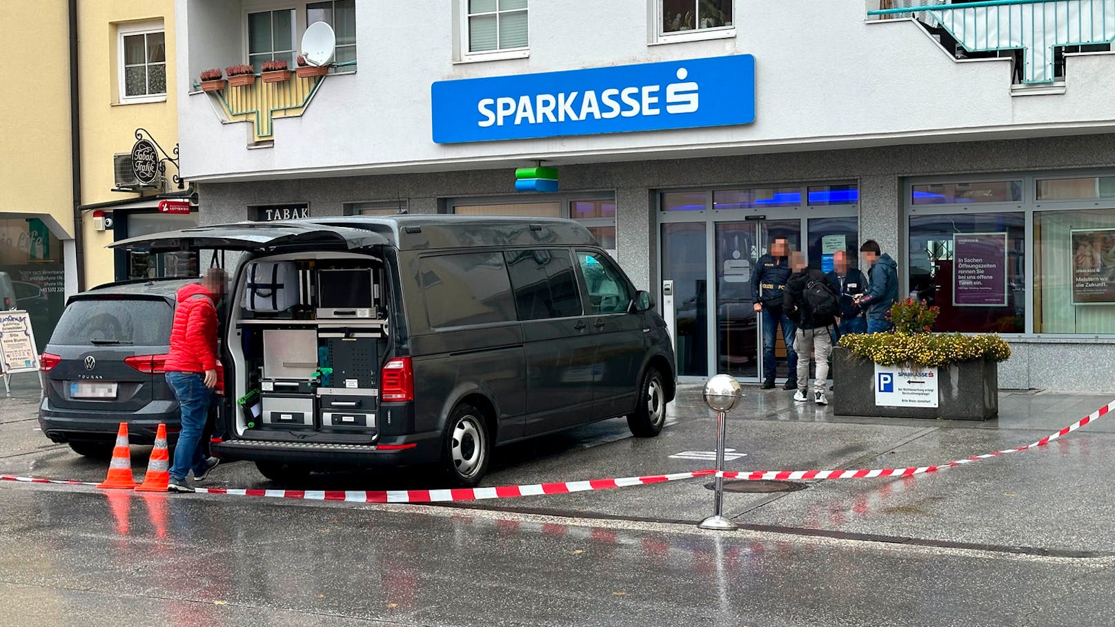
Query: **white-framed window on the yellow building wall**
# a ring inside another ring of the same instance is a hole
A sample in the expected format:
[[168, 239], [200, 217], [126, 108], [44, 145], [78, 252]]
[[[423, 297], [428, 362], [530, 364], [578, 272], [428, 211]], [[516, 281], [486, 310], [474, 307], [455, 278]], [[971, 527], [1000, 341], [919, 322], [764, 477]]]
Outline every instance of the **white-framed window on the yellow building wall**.
[[163, 22], [119, 25], [117, 59], [120, 102], [166, 98], [166, 35]]

